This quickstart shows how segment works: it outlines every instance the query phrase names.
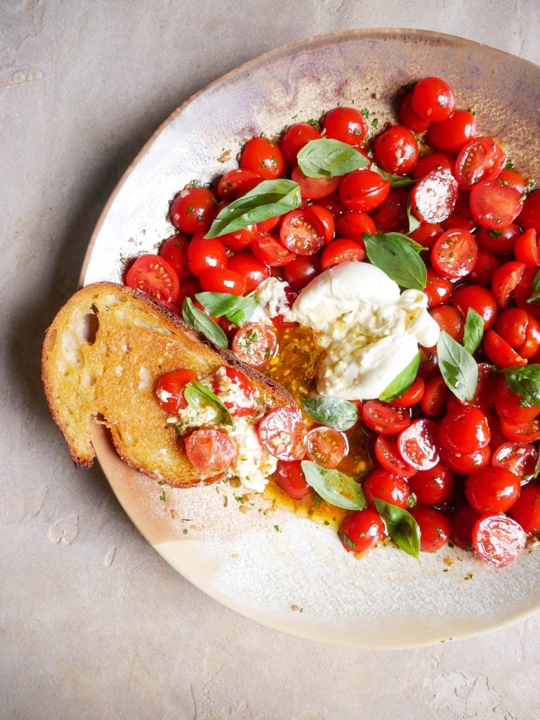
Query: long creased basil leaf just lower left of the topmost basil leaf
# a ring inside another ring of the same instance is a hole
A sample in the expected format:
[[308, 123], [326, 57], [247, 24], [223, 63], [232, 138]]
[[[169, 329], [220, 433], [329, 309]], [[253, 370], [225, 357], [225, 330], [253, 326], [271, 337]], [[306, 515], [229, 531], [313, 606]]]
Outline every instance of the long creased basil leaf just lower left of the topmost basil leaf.
[[285, 178], [263, 180], [242, 197], [222, 208], [205, 238], [219, 238], [236, 233], [269, 217], [285, 215], [302, 204], [300, 186]]

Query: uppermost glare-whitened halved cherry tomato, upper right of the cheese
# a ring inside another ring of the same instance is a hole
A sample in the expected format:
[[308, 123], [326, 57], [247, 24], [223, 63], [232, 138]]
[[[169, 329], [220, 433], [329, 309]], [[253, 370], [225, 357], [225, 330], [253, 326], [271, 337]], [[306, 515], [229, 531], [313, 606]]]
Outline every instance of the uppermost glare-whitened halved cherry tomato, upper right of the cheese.
[[457, 201], [457, 182], [448, 171], [435, 170], [419, 180], [411, 194], [413, 215], [434, 224], [449, 217]]

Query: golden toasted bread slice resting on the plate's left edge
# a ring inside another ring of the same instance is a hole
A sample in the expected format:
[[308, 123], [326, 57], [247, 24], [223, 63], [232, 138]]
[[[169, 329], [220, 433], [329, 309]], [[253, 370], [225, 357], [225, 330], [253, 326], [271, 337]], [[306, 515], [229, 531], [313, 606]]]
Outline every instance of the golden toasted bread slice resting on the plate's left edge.
[[110, 429], [124, 462], [177, 487], [219, 478], [200, 477], [188, 462], [156, 400], [155, 384], [170, 370], [191, 369], [203, 377], [221, 365], [242, 369], [265, 409], [295, 406], [288, 392], [231, 352], [216, 348], [149, 297], [114, 283], [75, 293], [48, 328], [42, 351], [47, 401], [75, 464], [93, 464], [88, 431], [93, 416]]

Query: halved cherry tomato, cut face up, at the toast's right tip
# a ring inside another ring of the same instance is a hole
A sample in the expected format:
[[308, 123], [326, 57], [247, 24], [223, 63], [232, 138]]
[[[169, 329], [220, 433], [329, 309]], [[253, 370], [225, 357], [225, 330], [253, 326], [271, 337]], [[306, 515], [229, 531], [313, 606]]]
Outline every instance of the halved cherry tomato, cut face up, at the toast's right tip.
[[306, 454], [306, 426], [297, 410], [270, 410], [257, 426], [257, 432], [262, 446], [280, 460], [300, 460]]

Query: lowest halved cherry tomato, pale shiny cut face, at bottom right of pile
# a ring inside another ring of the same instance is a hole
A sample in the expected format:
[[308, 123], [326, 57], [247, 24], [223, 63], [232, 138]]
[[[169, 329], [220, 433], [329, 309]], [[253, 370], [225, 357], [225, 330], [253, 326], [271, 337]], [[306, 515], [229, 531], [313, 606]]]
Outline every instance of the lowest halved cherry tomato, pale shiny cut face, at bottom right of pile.
[[472, 528], [472, 544], [478, 557], [493, 567], [506, 567], [525, 547], [521, 525], [506, 515], [488, 515]]

